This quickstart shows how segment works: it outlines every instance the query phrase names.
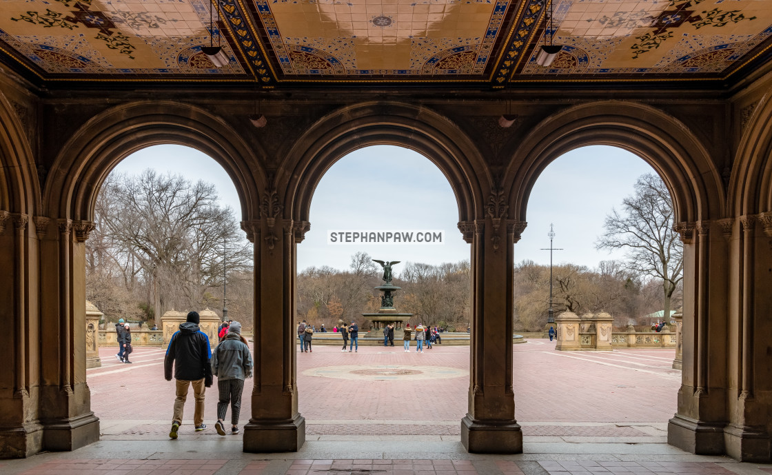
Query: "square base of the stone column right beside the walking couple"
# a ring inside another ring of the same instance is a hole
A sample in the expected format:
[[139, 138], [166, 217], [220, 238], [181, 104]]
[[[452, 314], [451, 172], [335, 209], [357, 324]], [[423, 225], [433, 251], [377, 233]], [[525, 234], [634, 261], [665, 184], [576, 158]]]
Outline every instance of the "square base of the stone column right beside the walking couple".
[[297, 452], [306, 443], [306, 418], [297, 414], [285, 421], [256, 421], [244, 426], [244, 452]]

